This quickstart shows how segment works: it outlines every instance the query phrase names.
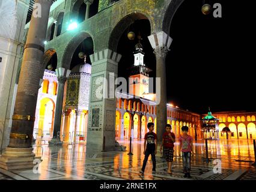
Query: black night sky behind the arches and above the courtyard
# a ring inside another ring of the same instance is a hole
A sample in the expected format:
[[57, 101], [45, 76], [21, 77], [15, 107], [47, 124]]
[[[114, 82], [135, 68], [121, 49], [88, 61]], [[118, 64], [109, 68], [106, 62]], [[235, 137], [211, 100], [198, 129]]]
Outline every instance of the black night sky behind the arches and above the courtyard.
[[[202, 0], [185, 0], [172, 19], [173, 41], [166, 58], [168, 102], [198, 113], [206, 113], [208, 107], [212, 112], [256, 111], [255, 7], [252, 1], [205, 2], [221, 3], [222, 18], [201, 13]], [[155, 70], [147, 40], [150, 25], [147, 20], [136, 23], [127, 31], [141, 31], [145, 64]], [[118, 53], [123, 55], [118, 76], [124, 77], [127, 66], [133, 64], [136, 43], [127, 39], [127, 31], [118, 45]]]

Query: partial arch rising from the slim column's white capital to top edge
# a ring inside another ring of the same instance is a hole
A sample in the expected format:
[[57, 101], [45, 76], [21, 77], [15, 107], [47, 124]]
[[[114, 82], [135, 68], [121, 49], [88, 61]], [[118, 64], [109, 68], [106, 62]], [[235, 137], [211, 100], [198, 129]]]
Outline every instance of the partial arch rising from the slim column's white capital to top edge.
[[171, 0], [166, 11], [163, 13], [162, 31], [166, 32], [166, 34], [170, 33], [172, 18], [183, 1], [184, 0]]

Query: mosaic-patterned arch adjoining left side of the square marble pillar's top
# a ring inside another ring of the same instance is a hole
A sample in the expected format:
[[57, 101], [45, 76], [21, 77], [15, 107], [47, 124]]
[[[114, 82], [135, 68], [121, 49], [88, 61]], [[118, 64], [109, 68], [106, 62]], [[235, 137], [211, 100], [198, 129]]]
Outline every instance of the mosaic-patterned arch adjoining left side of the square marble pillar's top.
[[[69, 43], [66, 46], [66, 49], [64, 50], [61, 62], [58, 62], [58, 67], [63, 67], [63, 68], [70, 68], [70, 64], [72, 61], [73, 54], [76, 51], [76, 48], [78, 48], [79, 44], [81, 44], [86, 38], [92, 38], [93, 40], [93, 45], [94, 45], [94, 38], [93, 36], [87, 32], [87, 31], [81, 31], [78, 34], [76, 34], [72, 40], [69, 41]], [[94, 46], [93, 46], [94, 49]]]

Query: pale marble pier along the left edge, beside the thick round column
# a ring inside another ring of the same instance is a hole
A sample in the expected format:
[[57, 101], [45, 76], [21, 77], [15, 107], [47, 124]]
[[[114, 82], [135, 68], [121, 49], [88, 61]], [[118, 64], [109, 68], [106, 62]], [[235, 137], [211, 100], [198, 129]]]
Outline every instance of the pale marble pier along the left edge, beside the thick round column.
[[0, 1], [0, 154], [8, 146], [28, 1]]

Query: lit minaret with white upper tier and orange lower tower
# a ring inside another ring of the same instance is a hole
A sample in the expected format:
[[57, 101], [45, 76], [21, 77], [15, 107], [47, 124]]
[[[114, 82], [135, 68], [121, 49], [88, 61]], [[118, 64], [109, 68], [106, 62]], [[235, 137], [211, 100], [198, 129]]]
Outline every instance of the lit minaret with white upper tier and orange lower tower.
[[138, 43], [135, 46], [134, 64], [132, 67], [131, 75], [129, 76], [129, 94], [137, 97], [143, 97], [148, 94], [148, 73], [151, 71], [144, 64], [143, 46], [141, 44], [141, 36], [138, 36]]

